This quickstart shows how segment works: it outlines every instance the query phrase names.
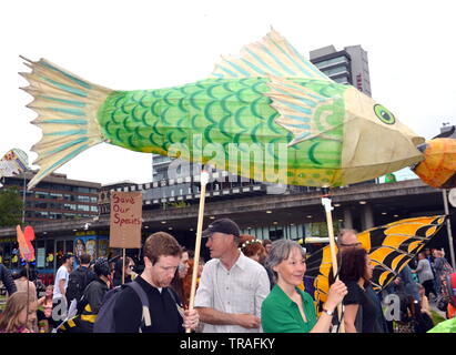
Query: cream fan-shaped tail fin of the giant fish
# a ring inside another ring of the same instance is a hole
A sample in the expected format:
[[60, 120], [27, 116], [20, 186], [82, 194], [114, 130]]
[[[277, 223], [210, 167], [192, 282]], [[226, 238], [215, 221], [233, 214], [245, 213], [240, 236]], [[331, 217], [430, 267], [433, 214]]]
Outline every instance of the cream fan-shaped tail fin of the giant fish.
[[97, 112], [112, 92], [90, 83], [55, 64], [21, 57], [31, 72], [20, 73], [29, 81], [21, 88], [33, 97], [28, 104], [38, 113], [31, 123], [42, 130], [42, 139], [32, 146], [38, 154], [33, 162], [40, 166], [28, 184], [32, 189], [44, 176], [105, 138], [97, 121]]

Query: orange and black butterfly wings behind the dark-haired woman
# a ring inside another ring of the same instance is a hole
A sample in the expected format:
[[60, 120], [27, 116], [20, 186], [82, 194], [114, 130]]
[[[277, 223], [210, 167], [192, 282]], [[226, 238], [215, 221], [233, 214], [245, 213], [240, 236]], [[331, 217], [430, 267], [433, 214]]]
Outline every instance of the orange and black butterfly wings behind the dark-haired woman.
[[[358, 241], [374, 265], [371, 280], [374, 290], [379, 292], [387, 286], [436, 235], [444, 222], [444, 215], [406, 219], [359, 233]], [[317, 304], [326, 302], [331, 273], [331, 251], [327, 245], [307, 258], [306, 277], [314, 280]]]

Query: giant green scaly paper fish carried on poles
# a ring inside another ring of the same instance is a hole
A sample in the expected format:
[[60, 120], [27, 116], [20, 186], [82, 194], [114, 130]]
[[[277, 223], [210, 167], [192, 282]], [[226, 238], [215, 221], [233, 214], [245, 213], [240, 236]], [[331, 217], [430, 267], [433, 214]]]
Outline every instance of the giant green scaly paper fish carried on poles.
[[341, 186], [418, 164], [424, 139], [352, 85], [338, 84], [272, 30], [194, 83], [102, 88], [42, 59], [22, 73], [43, 136], [41, 179], [90, 146], [178, 156], [259, 181]]

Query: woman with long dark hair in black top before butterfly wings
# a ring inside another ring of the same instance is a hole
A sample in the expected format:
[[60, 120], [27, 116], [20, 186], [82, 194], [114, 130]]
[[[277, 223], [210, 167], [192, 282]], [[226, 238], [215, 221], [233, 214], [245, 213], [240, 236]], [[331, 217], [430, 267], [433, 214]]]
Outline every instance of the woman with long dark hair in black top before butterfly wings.
[[366, 290], [374, 270], [371, 257], [361, 247], [343, 251], [341, 256], [340, 277], [348, 288], [343, 302], [346, 333], [383, 333], [383, 325], [377, 322], [382, 316], [378, 312], [382, 311]]

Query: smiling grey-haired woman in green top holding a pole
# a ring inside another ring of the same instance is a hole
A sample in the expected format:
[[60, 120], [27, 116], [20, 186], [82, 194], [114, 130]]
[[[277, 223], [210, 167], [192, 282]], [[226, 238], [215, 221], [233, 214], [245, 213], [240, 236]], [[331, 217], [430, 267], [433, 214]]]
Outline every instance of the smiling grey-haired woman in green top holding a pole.
[[272, 243], [266, 260], [277, 280], [274, 288], [263, 301], [261, 322], [265, 333], [327, 333], [332, 314], [347, 294], [345, 284], [335, 282], [318, 320], [314, 302], [307, 293], [297, 288], [303, 281], [305, 254], [296, 242], [278, 240]]

